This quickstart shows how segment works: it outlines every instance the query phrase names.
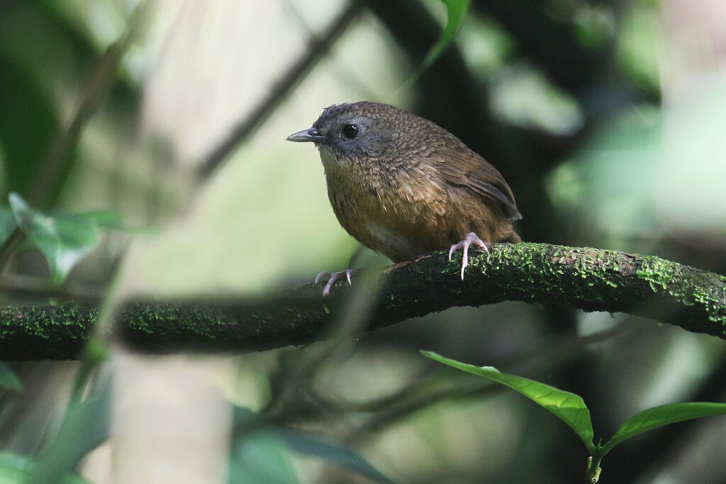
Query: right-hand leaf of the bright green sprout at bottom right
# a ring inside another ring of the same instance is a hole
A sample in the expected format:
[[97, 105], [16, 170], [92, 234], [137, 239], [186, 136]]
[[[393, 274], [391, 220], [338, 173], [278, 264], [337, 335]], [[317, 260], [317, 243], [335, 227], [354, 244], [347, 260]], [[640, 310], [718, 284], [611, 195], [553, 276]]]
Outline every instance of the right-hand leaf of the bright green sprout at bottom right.
[[603, 446], [603, 456], [627, 438], [631, 438], [648, 430], [684, 420], [726, 414], [725, 403], [688, 402], [666, 403], [641, 411], [627, 419], [620, 426], [613, 438]]

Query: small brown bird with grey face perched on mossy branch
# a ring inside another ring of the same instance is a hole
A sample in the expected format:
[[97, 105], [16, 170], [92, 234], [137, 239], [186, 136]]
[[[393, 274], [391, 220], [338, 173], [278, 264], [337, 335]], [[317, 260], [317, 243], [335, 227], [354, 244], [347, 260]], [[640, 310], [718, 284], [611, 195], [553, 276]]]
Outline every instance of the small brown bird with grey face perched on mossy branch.
[[[502, 174], [429, 120], [378, 102], [333, 104], [313, 127], [287, 136], [320, 152], [327, 194], [340, 225], [393, 262], [471, 244], [521, 242], [522, 218]], [[327, 276], [323, 294], [351, 270]]]

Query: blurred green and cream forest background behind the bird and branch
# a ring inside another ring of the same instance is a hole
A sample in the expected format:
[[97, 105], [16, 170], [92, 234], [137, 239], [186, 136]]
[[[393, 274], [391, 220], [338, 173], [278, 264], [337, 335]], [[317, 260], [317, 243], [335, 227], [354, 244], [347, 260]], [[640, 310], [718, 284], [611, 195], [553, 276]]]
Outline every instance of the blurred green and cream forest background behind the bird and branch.
[[[330, 104], [370, 99], [439, 123], [494, 164], [528, 241], [726, 274], [726, 5], [472, 0], [454, 43], [407, 83], [456, 3], [0, 0], [0, 192], [52, 213], [123, 216], [131, 230], [105, 232], [71, 272], [81, 292], [115, 282], [116, 299], [244, 297], [307, 282], [346, 268], [359, 245], [335, 220], [317, 150], [285, 137]], [[341, 15], [330, 52], [278, 92]], [[200, 172], [240, 125], [224, 163]], [[47, 302], [32, 289], [48, 276], [40, 253], [18, 253], [4, 303]], [[582, 395], [596, 438], [648, 406], [725, 398], [713, 337], [502, 303], [247, 356], [114, 348], [109, 432], [68, 445], [98, 483], [582, 480], [587, 455], [570, 430], [420, 348]], [[81, 435], [59, 428], [77, 369], [17, 370], [23, 390], [0, 398], [2, 451], [42, 464], [62, 431]], [[635, 438], [608, 455], [601, 482], [723, 482], [725, 425]], [[0, 482], [20, 482], [8, 462]]]

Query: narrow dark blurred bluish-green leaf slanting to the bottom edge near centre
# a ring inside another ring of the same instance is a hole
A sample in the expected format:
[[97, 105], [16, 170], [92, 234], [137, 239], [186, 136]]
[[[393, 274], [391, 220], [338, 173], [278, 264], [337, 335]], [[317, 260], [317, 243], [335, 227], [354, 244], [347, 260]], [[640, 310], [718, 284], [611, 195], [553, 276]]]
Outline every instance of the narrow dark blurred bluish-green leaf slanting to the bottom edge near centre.
[[356, 472], [377, 483], [392, 483], [388, 477], [381, 474], [378, 469], [373, 467], [366, 459], [348, 448], [339, 446], [335, 443], [326, 442], [314, 435], [303, 432], [295, 432], [286, 430], [282, 433], [282, 437], [290, 449], [300, 454], [308, 454], [310, 456], [319, 457], [330, 464], [338, 465], [345, 469]]

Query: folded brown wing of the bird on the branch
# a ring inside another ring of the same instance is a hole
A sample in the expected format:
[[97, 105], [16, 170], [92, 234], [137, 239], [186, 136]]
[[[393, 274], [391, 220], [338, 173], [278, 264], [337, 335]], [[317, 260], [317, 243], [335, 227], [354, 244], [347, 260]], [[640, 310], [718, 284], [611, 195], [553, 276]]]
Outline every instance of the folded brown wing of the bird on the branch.
[[450, 184], [465, 186], [474, 192], [502, 204], [507, 218], [519, 220], [521, 213], [517, 210], [512, 189], [505, 181], [502, 173], [497, 171], [483, 157], [464, 145], [456, 149], [447, 149], [446, 155], [438, 153], [439, 173]]

